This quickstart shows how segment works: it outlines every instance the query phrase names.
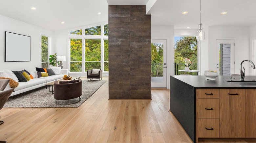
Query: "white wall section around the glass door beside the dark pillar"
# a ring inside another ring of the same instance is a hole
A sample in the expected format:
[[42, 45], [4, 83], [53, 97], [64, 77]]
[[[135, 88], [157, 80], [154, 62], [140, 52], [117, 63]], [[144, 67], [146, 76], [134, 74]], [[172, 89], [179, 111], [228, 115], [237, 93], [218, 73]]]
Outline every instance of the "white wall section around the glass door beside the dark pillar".
[[174, 26], [151, 26], [151, 39], [166, 39], [167, 88], [170, 88], [170, 75], [174, 75]]

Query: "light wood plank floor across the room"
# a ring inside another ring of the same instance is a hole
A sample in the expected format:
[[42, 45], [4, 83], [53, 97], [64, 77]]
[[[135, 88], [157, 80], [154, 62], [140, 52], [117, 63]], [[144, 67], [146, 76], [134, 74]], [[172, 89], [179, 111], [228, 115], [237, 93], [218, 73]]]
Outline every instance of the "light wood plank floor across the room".
[[169, 89], [152, 88], [152, 100], [108, 100], [107, 81], [78, 108], [3, 108], [0, 115], [0, 140], [9, 143], [192, 142], [169, 111]]

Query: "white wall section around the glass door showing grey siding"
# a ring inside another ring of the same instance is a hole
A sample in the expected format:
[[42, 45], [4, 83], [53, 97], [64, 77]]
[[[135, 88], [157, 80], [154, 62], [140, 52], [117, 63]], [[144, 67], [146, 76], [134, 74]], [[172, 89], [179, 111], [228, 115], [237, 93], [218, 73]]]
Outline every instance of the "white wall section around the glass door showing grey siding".
[[[234, 39], [234, 61], [235, 73], [240, 74], [240, 62], [250, 59], [249, 27], [239, 26], [209, 26], [209, 70], [216, 70], [216, 39]], [[256, 32], [255, 32], [256, 34]], [[203, 53], [203, 52], [202, 52]], [[206, 53], [205, 53], [206, 54]], [[256, 62], [256, 61], [255, 61]], [[251, 68], [249, 62], [243, 63], [246, 75], [250, 75]]]

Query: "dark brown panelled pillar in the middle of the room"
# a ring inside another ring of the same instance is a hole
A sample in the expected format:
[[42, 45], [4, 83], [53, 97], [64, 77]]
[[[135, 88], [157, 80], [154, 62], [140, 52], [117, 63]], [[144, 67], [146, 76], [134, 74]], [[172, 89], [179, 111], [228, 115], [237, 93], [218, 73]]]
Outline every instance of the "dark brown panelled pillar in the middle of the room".
[[151, 99], [151, 15], [109, 6], [109, 99]]

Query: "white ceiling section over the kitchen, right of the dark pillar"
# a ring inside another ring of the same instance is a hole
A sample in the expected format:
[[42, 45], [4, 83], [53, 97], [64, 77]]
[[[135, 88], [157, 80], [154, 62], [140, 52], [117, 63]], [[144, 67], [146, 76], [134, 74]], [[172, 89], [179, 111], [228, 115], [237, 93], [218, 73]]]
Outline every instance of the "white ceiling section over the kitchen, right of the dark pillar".
[[[157, 0], [149, 10], [152, 25], [174, 25], [175, 29], [197, 29], [199, 0]], [[256, 0], [201, 0], [202, 24], [207, 26], [256, 25]], [[188, 11], [188, 14], [182, 14]], [[221, 12], [227, 14], [221, 15]]]

